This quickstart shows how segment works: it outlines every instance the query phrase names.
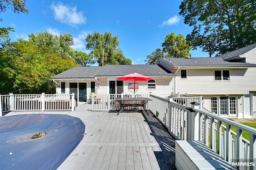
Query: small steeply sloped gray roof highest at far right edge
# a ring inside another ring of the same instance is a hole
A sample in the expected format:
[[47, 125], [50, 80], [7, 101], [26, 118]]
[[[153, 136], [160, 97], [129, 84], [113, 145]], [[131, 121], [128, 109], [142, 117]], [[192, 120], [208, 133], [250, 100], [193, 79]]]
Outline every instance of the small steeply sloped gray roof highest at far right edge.
[[231, 59], [234, 57], [239, 57], [240, 55], [243, 55], [243, 54], [247, 53], [248, 51], [251, 51], [254, 48], [256, 48], [256, 43], [247, 45], [245, 47], [236, 49], [234, 51], [230, 51], [223, 55], [219, 55], [218, 57], [222, 57], [223, 60], [228, 60], [228, 59]]

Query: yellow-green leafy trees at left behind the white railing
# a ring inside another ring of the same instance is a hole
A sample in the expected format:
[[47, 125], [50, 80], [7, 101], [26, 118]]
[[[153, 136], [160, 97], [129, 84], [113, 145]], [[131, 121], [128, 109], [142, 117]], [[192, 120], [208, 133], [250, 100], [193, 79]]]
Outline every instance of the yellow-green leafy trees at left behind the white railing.
[[52, 51], [46, 45], [19, 39], [8, 50], [1, 51], [0, 93], [55, 93], [49, 78], [77, 66], [68, 56]]

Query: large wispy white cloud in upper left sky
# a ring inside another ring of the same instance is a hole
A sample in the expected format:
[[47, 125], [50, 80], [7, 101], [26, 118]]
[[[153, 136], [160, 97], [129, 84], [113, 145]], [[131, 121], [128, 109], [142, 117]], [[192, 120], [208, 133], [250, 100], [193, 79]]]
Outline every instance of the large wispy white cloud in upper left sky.
[[69, 26], [75, 27], [86, 23], [86, 17], [83, 16], [82, 12], [76, 11], [76, 7], [64, 6], [61, 3], [52, 4], [52, 11], [56, 20]]

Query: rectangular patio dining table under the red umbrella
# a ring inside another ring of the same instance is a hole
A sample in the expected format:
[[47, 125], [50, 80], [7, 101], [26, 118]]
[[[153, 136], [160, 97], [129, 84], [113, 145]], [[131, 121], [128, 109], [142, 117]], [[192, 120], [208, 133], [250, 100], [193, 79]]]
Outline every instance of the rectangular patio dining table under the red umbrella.
[[124, 107], [142, 107], [143, 111], [146, 111], [146, 104], [148, 101], [152, 101], [148, 97], [120, 97], [115, 99], [119, 102], [120, 109], [118, 114], [124, 110]]

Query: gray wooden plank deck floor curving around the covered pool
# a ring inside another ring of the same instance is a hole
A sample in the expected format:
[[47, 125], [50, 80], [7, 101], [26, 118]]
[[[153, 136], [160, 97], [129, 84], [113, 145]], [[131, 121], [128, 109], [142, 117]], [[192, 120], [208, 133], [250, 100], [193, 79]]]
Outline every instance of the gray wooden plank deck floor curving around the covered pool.
[[[43, 112], [78, 117], [86, 125], [84, 138], [59, 170], [175, 169], [174, 138], [150, 112], [117, 115], [89, 109], [79, 105], [73, 112]], [[24, 112], [8, 115], [14, 114]]]

